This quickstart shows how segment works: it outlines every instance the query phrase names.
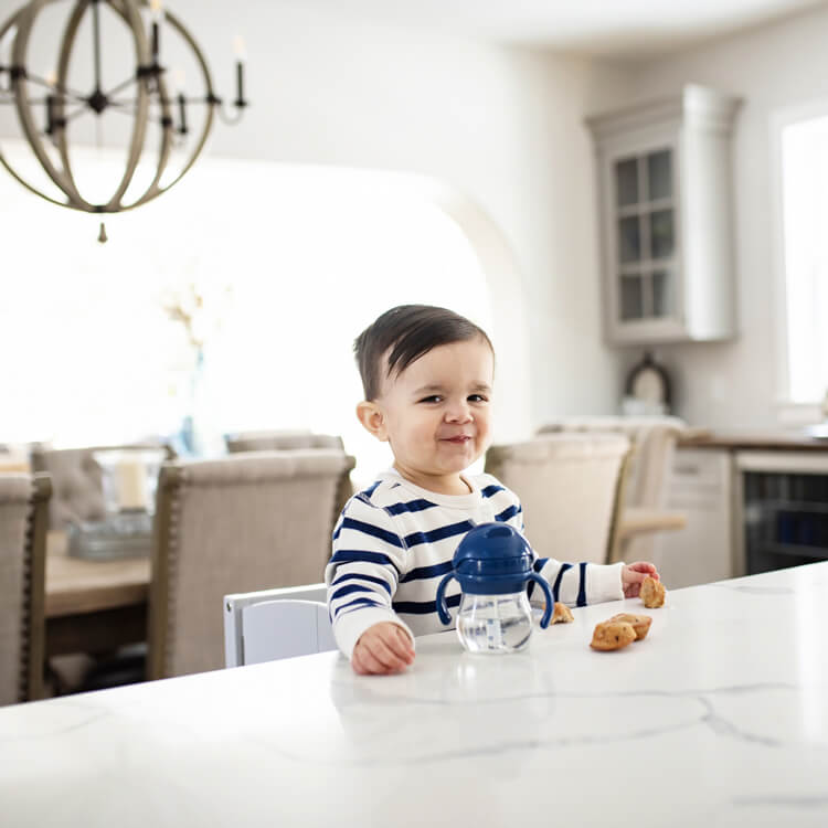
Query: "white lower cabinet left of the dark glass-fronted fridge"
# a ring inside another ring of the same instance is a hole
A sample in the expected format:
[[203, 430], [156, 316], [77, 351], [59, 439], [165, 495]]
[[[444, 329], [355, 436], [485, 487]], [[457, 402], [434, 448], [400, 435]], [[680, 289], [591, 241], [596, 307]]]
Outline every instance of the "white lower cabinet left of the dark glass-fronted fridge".
[[652, 553], [668, 590], [734, 577], [733, 455], [718, 448], [678, 448], [667, 507], [687, 527], [659, 534]]

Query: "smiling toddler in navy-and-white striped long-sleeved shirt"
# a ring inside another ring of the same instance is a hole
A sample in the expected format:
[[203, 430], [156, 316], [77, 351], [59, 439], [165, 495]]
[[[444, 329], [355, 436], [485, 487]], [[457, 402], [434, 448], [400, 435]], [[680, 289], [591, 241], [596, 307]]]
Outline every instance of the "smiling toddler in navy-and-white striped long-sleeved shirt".
[[[445, 308], [403, 305], [354, 342], [365, 399], [362, 425], [393, 467], [346, 505], [326, 569], [333, 635], [360, 675], [399, 672], [414, 636], [445, 630], [437, 584], [466, 532], [503, 521], [523, 531], [514, 492], [465, 470], [490, 444], [495, 352], [476, 325]], [[635, 597], [651, 563], [576, 566], [540, 559], [555, 601], [584, 605]], [[452, 582], [447, 604], [459, 604]]]

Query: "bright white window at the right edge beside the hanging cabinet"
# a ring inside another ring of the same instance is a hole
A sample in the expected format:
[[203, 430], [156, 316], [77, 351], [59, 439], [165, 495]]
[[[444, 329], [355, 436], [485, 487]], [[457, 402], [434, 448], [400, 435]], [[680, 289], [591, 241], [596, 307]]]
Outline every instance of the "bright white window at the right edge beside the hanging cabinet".
[[828, 389], [828, 106], [778, 120], [787, 399]]

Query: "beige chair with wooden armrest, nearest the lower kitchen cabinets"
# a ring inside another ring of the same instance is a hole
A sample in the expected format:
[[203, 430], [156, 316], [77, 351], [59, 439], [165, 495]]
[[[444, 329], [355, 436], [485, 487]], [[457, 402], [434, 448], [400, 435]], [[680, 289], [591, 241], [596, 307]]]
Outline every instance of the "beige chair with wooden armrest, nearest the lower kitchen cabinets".
[[657, 533], [687, 526], [683, 512], [667, 508], [676, 444], [687, 431], [683, 420], [662, 415], [566, 417], [539, 429], [539, 435], [623, 434], [629, 438], [633, 450], [611, 560], [652, 561]]

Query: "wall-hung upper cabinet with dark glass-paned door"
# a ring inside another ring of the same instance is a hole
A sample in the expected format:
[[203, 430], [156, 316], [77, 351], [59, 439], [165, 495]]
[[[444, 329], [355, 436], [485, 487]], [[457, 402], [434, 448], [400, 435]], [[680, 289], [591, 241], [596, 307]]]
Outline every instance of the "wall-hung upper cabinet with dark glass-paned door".
[[731, 130], [739, 99], [698, 85], [587, 118], [597, 153], [608, 341], [735, 335]]

